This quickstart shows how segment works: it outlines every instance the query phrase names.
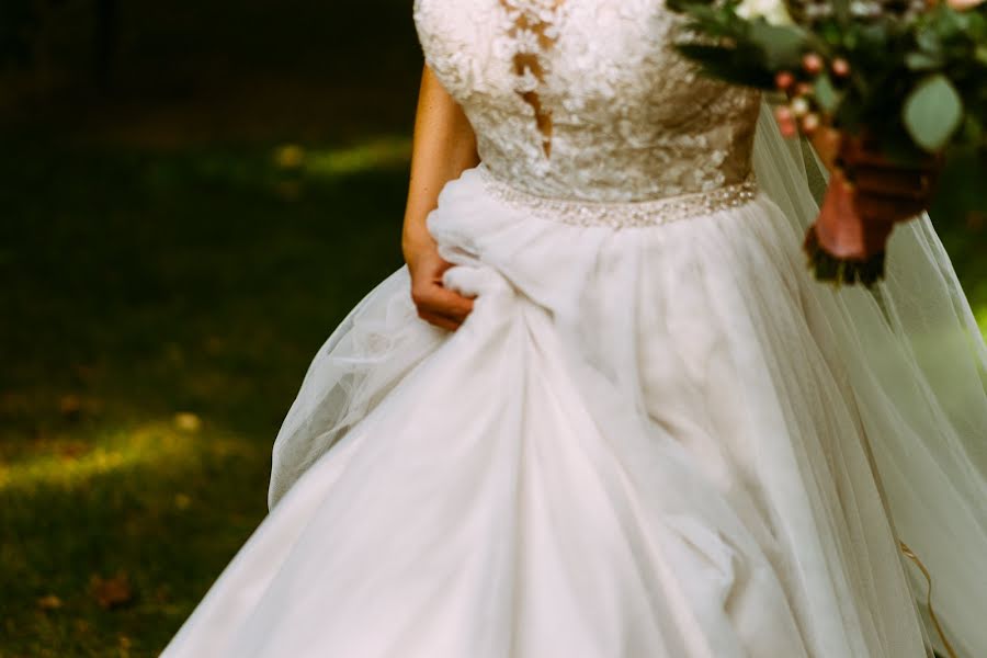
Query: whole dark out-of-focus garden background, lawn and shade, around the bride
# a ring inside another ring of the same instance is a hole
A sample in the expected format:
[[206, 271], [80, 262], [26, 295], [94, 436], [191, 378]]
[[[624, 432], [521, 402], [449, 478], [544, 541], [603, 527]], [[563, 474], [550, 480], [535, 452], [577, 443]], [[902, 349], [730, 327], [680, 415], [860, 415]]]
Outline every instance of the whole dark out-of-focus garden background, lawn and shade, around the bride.
[[[0, 2], [0, 658], [154, 656], [400, 265], [398, 0]], [[987, 325], [976, 228], [941, 226]]]

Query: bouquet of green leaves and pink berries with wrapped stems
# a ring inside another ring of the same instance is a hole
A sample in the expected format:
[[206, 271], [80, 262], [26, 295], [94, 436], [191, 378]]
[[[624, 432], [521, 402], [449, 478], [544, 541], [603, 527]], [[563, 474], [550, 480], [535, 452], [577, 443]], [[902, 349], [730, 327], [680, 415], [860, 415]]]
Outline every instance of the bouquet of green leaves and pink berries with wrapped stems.
[[[808, 138], [830, 170], [804, 242], [818, 280], [872, 286], [894, 224], [937, 195], [987, 208], [987, 4], [932, 1], [668, 0], [687, 18], [678, 50], [776, 92], [782, 134]], [[912, 181], [914, 203], [898, 189], [875, 207], [888, 172]]]

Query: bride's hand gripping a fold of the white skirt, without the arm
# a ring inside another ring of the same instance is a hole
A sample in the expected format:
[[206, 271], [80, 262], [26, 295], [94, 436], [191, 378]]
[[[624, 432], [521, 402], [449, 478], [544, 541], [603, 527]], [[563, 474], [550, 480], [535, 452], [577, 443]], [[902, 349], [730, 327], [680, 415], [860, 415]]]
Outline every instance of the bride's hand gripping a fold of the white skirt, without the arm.
[[442, 285], [442, 274], [452, 263], [439, 256], [434, 241], [405, 249], [411, 272], [411, 299], [418, 317], [442, 329], [455, 331], [473, 310], [473, 299]]

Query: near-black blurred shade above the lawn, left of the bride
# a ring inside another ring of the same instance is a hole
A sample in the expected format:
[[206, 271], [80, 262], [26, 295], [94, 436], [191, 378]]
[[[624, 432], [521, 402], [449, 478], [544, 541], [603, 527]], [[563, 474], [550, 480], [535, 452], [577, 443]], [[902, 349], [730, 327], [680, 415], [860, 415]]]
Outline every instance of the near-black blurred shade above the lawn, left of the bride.
[[336, 136], [328, 113], [339, 111], [364, 128], [404, 128], [406, 107], [395, 101], [413, 92], [419, 67], [410, 4], [398, 0], [0, 5], [8, 124], [29, 115], [91, 128], [154, 115], [126, 126], [136, 131], [194, 109], [202, 116], [183, 126], [195, 131], [186, 138]]

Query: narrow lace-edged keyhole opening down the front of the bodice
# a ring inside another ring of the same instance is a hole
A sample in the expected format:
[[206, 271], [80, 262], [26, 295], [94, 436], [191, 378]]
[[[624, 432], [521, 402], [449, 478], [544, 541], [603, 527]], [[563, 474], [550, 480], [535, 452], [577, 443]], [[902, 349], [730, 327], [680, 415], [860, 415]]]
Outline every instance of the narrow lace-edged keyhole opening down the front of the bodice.
[[534, 112], [542, 136], [542, 150], [552, 157], [552, 110], [542, 99], [540, 88], [547, 73], [547, 53], [558, 41], [558, 24], [565, 0], [499, 0], [508, 14], [508, 48], [518, 79], [514, 91]]

